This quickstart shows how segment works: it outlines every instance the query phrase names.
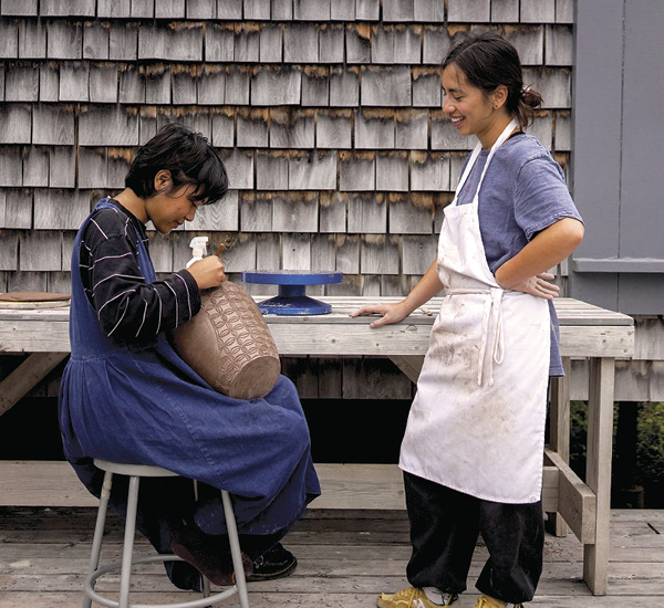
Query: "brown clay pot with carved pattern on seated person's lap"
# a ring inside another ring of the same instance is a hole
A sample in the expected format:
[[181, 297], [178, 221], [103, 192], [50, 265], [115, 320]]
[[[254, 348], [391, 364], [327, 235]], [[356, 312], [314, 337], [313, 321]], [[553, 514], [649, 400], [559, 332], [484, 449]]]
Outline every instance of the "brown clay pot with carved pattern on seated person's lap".
[[264, 397], [279, 378], [279, 353], [258, 306], [228, 281], [201, 293], [199, 313], [175, 331], [175, 344], [208, 384], [236, 399]]

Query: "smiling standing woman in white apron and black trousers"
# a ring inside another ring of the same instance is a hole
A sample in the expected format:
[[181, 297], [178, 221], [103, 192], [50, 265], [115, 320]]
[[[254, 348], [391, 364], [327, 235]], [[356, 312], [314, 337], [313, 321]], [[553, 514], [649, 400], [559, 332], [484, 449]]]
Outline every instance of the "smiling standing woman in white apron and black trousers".
[[523, 128], [541, 96], [523, 87], [511, 44], [465, 36], [443, 63], [443, 111], [478, 138], [438, 255], [408, 296], [353, 313], [395, 323], [445, 289], [417, 384], [400, 467], [412, 587], [382, 608], [452, 606], [478, 534], [489, 551], [476, 608], [532, 599], [542, 568], [541, 475], [549, 375], [562, 373], [558, 287], [546, 273], [581, 242], [561, 168]]

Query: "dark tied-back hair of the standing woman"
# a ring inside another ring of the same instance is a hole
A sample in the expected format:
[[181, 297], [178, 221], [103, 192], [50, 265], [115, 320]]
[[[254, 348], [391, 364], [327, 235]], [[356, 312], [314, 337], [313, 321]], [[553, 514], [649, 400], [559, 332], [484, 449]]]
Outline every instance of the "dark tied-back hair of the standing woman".
[[479, 35], [458, 33], [453, 48], [443, 61], [443, 70], [454, 63], [468, 83], [492, 93], [499, 85], [507, 87], [507, 111], [517, 118], [521, 128], [528, 126], [535, 115], [533, 108], [542, 103], [542, 96], [523, 86], [521, 60], [517, 50], [496, 32]]

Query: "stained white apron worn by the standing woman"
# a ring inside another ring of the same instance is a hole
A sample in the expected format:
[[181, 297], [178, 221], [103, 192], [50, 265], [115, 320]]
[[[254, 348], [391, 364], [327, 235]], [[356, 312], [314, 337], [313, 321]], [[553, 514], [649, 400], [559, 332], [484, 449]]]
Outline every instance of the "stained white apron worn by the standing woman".
[[438, 276], [445, 298], [432, 328], [401, 449], [404, 471], [479, 499], [540, 500], [550, 313], [546, 300], [504, 291], [489, 270], [478, 219], [481, 181], [457, 205], [478, 144], [445, 209]]

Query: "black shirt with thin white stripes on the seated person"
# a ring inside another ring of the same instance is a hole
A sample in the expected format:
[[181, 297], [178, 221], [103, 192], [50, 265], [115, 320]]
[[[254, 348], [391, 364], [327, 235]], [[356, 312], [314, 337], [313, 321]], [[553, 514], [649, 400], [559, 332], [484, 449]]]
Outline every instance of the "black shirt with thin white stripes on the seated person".
[[147, 250], [143, 223], [118, 202], [91, 217], [81, 240], [81, 280], [104, 333], [122, 343], [149, 342], [200, 310], [198, 285], [186, 270], [147, 283], [138, 240]]

